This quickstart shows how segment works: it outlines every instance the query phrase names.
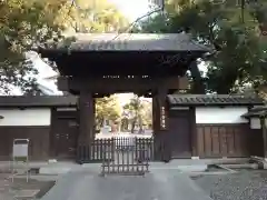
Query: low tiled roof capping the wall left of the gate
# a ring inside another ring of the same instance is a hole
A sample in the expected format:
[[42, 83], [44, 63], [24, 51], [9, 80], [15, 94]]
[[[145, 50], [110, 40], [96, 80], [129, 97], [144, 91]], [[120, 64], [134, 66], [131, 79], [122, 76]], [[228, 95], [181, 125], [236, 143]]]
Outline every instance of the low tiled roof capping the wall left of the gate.
[[0, 96], [0, 108], [8, 107], [73, 107], [75, 96]]

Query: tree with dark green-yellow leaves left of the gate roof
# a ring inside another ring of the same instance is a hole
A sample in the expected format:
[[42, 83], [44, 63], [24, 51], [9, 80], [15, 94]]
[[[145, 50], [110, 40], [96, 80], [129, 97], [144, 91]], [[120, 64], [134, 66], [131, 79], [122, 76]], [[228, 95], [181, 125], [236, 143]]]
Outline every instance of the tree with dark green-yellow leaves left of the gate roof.
[[37, 70], [26, 52], [33, 43], [60, 38], [69, 6], [67, 0], [0, 1], [0, 86], [4, 92], [12, 87], [20, 87], [26, 93], [36, 89]]

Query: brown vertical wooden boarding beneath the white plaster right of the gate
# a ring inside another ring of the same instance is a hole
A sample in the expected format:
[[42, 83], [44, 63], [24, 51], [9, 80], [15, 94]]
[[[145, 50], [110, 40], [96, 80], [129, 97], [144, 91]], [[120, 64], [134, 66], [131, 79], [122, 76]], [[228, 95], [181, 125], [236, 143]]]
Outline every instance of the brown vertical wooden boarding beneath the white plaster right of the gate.
[[249, 124], [197, 124], [200, 158], [263, 157], [263, 134]]

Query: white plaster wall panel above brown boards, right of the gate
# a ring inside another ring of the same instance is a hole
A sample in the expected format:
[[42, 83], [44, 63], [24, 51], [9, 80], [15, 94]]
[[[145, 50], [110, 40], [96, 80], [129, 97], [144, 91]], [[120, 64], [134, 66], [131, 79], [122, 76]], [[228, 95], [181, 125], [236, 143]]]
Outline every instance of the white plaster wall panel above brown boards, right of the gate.
[[248, 111], [247, 107], [196, 108], [197, 123], [247, 123], [241, 114]]

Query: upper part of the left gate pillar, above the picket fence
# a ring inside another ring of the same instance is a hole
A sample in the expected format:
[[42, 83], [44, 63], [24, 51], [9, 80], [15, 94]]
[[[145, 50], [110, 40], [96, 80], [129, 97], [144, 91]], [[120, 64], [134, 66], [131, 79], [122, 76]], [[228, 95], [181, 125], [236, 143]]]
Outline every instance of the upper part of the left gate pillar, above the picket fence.
[[90, 92], [80, 92], [79, 120], [78, 146], [90, 146], [95, 139], [95, 100]]

